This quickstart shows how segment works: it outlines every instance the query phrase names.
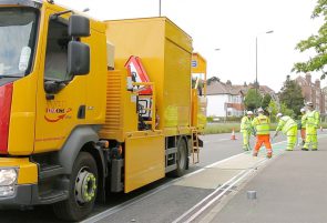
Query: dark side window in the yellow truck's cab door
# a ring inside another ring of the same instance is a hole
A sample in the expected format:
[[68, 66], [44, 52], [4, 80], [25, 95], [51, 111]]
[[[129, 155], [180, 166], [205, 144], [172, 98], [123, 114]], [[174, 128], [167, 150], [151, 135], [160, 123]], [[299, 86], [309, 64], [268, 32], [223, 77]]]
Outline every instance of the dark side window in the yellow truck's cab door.
[[45, 54], [45, 80], [67, 81], [68, 75], [68, 26], [58, 20], [49, 22], [48, 43]]

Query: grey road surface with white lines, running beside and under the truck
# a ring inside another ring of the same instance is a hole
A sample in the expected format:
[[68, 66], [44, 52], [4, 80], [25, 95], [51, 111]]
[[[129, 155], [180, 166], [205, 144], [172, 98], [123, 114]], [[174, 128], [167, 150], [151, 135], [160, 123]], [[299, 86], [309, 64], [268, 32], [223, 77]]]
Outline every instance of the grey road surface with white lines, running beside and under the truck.
[[[253, 159], [251, 154], [243, 152], [239, 134], [236, 134], [236, 139], [232, 141], [231, 134], [205, 135], [201, 162], [191, 165], [185, 178], [166, 178], [130, 194], [111, 195], [108, 197], [109, 202], [105, 205], [98, 204], [92, 216], [83, 223], [177, 223], [190, 217], [194, 217], [195, 222], [200, 221], [211, 213], [210, 210], [215, 204], [213, 197], [229, 194], [235, 186], [239, 186], [241, 182], [254, 174], [253, 170], [266, 162], [264, 149], [260, 158]], [[278, 136], [274, 141], [277, 143], [274, 145], [276, 155], [285, 148], [285, 142], [282, 141], [285, 141], [285, 138]], [[210, 209], [205, 207], [207, 203], [212, 203]], [[24, 211], [3, 210], [0, 214], [1, 223], [60, 222], [51, 206]]]

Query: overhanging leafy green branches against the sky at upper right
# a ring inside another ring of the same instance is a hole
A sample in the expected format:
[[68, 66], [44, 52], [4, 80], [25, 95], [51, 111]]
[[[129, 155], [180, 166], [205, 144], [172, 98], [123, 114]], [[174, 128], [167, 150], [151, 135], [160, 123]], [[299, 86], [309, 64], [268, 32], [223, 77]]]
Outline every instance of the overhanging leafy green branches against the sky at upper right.
[[309, 72], [320, 71], [323, 72], [320, 79], [325, 79], [327, 71], [325, 65], [327, 64], [327, 1], [318, 0], [317, 6], [314, 9], [311, 18], [323, 17], [325, 23], [320, 27], [317, 34], [310, 36], [308, 39], [297, 43], [296, 49], [300, 52], [307, 50], [315, 50], [316, 55], [310, 58], [306, 62], [298, 62], [294, 64], [293, 71], [296, 72]]

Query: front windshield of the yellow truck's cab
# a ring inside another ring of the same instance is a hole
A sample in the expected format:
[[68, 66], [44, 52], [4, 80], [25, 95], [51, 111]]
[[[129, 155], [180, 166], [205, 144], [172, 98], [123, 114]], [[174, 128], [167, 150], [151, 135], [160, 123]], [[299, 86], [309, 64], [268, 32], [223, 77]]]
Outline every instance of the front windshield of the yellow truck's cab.
[[38, 10], [0, 8], [0, 79], [30, 73], [38, 30]]

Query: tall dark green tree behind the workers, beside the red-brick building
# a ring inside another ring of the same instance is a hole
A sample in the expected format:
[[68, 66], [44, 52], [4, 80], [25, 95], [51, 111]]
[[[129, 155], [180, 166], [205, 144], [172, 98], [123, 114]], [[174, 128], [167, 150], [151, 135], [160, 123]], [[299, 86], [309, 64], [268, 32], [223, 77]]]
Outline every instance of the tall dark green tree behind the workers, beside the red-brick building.
[[279, 100], [287, 109], [293, 110], [294, 114], [300, 115], [300, 109], [304, 105], [302, 89], [296, 81], [290, 80], [289, 75], [279, 92]]

